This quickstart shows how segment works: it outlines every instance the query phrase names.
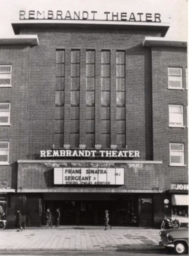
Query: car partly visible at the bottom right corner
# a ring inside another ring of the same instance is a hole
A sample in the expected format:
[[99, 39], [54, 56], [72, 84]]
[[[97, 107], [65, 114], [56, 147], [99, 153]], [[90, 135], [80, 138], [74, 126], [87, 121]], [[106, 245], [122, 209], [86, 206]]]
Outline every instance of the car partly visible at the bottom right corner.
[[160, 231], [160, 245], [172, 249], [178, 255], [188, 251], [188, 224], [186, 227]]

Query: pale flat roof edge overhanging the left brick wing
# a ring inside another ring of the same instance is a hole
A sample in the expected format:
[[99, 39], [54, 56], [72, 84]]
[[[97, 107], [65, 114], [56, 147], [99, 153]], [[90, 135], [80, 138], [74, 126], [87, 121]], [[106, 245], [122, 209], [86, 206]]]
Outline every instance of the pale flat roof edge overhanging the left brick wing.
[[38, 35], [13, 35], [12, 37], [0, 37], [0, 44], [29, 44], [38, 45]]

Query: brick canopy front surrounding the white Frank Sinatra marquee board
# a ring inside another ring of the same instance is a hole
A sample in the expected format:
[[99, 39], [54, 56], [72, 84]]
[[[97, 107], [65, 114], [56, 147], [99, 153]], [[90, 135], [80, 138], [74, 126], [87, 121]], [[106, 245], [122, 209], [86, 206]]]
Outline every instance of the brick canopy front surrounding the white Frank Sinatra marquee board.
[[[54, 185], [54, 167], [109, 167], [124, 168], [124, 186], [108, 186], [119, 192], [119, 189], [162, 189], [162, 164], [142, 163], [19, 163], [18, 165], [18, 189], [58, 189], [66, 192], [67, 186]], [[68, 186], [78, 189], [78, 186]], [[83, 186], [81, 186], [81, 189]], [[89, 186], [91, 188], [91, 186]], [[92, 186], [100, 189], [101, 186]], [[20, 190], [22, 192], [22, 190]]]

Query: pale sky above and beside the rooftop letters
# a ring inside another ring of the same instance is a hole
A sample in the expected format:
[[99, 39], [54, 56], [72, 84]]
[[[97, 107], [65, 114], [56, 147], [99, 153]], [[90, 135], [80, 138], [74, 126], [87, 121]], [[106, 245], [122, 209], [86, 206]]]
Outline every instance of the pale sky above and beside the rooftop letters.
[[187, 0], [0, 0], [0, 38], [14, 35], [11, 21], [19, 20], [20, 10], [97, 11], [160, 13], [162, 23], [170, 23], [168, 39], [187, 40]]

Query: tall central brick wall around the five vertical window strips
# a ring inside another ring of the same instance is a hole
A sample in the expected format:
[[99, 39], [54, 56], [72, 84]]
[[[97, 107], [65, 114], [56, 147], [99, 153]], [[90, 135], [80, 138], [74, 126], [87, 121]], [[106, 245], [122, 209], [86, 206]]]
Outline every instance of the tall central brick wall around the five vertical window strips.
[[[21, 31], [25, 34], [28, 31]], [[95, 144], [101, 145], [101, 50], [111, 51], [111, 87], [115, 87], [116, 50], [125, 50], [125, 109], [126, 145], [140, 151], [141, 159], [152, 160], [152, 113], [151, 113], [151, 49], [143, 48], [145, 35], [159, 36], [159, 32], [144, 30], [111, 29], [31, 29], [38, 34], [39, 46], [31, 48], [29, 76], [29, 128], [28, 154], [35, 158], [41, 149], [50, 149], [54, 144], [55, 113], [55, 50], [65, 49], [65, 104], [64, 145], [70, 144], [70, 50], [81, 50], [80, 87], [85, 88], [85, 50], [96, 50], [96, 94], [95, 94]], [[137, 74], [137, 75], [136, 75]], [[114, 81], [114, 82], [113, 82]], [[110, 102], [115, 103], [111, 88]], [[80, 90], [80, 107], [85, 106], [85, 90]], [[111, 113], [116, 105], [111, 105]], [[113, 115], [111, 115], [113, 116]], [[86, 145], [86, 121], [80, 115], [80, 144]], [[115, 119], [115, 118], [114, 118]], [[111, 142], [115, 145], [116, 132], [111, 118]]]

